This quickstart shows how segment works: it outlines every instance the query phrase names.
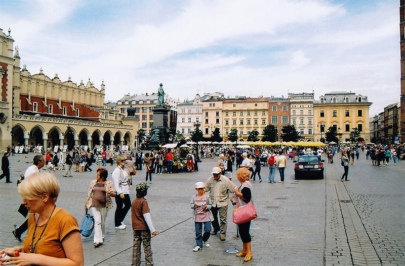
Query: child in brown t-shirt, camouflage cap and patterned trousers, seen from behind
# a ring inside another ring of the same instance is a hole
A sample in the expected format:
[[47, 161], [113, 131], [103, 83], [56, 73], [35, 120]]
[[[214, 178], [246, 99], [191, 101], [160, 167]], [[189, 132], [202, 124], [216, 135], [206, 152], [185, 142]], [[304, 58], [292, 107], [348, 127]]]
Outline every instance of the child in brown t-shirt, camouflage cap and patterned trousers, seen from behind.
[[[119, 157], [119, 156], [118, 156]], [[134, 243], [132, 249], [132, 265], [141, 265], [141, 244], [145, 254], [146, 266], [153, 265], [150, 235], [157, 235], [150, 217], [150, 210], [145, 196], [148, 194], [148, 185], [140, 183], [136, 185], [136, 198], [131, 205], [132, 229], [134, 231]]]

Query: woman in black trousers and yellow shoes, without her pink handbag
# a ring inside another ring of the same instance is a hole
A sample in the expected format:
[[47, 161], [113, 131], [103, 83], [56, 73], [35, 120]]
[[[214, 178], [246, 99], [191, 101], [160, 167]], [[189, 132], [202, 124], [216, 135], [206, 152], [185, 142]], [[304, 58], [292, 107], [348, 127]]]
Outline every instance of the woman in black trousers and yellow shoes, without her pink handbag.
[[[233, 200], [236, 201], [238, 206], [245, 206], [252, 200], [252, 184], [249, 181], [250, 171], [247, 168], [239, 168], [236, 171], [236, 178], [240, 182], [240, 186], [236, 188], [233, 192]], [[250, 222], [237, 225], [240, 239], [242, 240], [243, 249], [236, 254], [237, 257], [245, 257], [244, 261], [249, 261], [252, 259], [252, 238], [250, 236]]]

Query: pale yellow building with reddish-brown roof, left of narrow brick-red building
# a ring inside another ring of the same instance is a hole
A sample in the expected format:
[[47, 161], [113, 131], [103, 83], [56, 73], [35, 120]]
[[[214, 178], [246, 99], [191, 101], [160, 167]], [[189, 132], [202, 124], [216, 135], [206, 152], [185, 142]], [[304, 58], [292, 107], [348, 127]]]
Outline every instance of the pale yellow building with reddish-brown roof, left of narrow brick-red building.
[[269, 97], [225, 99], [222, 106], [224, 140], [231, 129], [237, 129], [238, 140], [247, 141], [253, 130], [263, 137], [263, 129], [268, 125]]

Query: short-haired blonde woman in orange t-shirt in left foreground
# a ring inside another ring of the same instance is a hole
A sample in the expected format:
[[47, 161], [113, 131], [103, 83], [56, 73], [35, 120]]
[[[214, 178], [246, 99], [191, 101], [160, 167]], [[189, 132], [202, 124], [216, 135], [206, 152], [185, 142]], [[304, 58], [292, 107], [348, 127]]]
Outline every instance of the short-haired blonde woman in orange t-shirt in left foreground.
[[[0, 253], [19, 265], [82, 266], [84, 264], [82, 239], [76, 219], [56, 206], [59, 182], [50, 173], [35, 173], [18, 186], [18, 193], [30, 212], [28, 232], [24, 245], [6, 248]], [[9, 264], [9, 263], [7, 263]]]

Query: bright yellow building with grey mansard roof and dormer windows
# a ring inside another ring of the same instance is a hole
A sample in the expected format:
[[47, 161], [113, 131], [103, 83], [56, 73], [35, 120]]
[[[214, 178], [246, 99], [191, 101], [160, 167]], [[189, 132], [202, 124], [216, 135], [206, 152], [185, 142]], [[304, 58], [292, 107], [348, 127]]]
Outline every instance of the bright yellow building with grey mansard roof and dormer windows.
[[321, 95], [314, 102], [314, 140], [325, 139], [329, 127], [335, 127], [339, 142], [350, 142], [353, 128], [360, 131], [360, 137], [370, 142], [369, 110], [372, 102], [367, 96], [354, 92], [332, 91]]

